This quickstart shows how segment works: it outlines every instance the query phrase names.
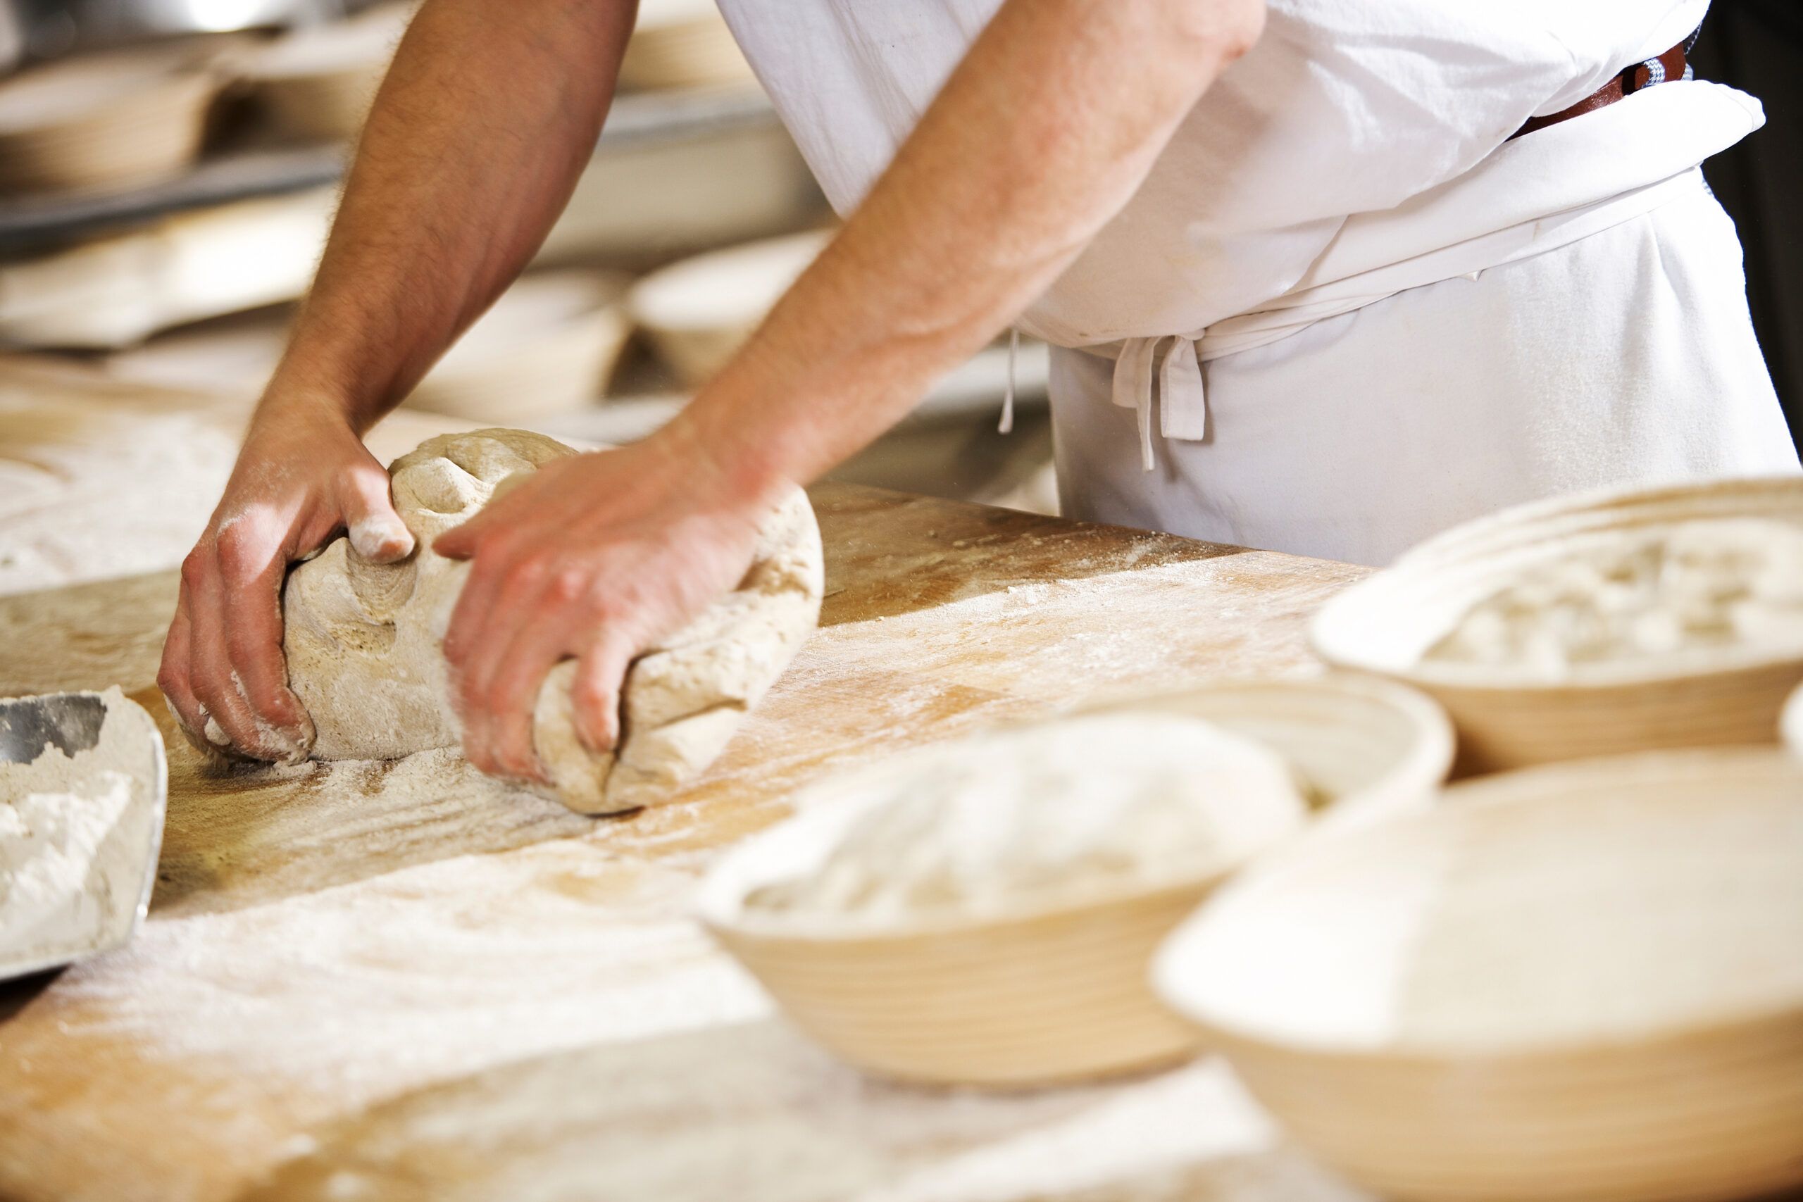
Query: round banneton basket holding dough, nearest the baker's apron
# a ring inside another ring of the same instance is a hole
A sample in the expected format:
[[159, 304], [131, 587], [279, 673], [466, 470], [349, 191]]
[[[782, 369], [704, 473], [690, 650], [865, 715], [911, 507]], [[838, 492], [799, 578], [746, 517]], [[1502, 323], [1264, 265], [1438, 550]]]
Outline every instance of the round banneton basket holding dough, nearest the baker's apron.
[[1432, 539], [1334, 596], [1309, 636], [1331, 665], [1414, 685], [1459, 728], [1462, 773], [1671, 746], [1771, 742], [1803, 681], [1803, 647], [1725, 647], [1670, 660], [1581, 665], [1534, 679], [1424, 661], [1459, 618], [1511, 575], [1608, 532], [1715, 517], [1803, 524], [1803, 478], [1736, 479], [1536, 503]]

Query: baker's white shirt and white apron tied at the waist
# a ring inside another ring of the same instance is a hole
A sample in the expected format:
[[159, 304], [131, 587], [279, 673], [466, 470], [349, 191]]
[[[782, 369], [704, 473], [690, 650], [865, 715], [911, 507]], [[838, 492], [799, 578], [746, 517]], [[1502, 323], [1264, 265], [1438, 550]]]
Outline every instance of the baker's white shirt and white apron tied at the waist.
[[[721, 0], [840, 213], [997, 0]], [[1271, 0], [1019, 326], [1055, 344], [1064, 512], [1385, 562], [1605, 483], [1798, 470], [1697, 164], [1711, 83], [1506, 141], [1706, 0]]]

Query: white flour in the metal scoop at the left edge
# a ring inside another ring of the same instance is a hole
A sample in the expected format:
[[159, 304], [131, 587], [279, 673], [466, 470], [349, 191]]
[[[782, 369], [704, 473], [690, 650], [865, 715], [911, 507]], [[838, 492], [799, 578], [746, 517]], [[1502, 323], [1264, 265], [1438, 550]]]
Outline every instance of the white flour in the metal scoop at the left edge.
[[[108, 699], [123, 701], [117, 688]], [[142, 757], [110, 721], [74, 757], [47, 744], [31, 764], [0, 764], [0, 961], [92, 948], [137, 905], [137, 847], [108, 836], [133, 800], [124, 769]]]

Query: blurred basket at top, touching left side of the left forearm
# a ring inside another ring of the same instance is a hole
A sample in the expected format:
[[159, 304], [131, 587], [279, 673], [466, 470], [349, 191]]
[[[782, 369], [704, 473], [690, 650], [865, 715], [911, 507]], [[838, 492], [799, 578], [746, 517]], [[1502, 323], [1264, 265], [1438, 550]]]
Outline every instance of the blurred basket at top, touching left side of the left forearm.
[[362, 130], [411, 7], [386, 4], [330, 25], [296, 29], [238, 65], [263, 119], [301, 141], [348, 141]]

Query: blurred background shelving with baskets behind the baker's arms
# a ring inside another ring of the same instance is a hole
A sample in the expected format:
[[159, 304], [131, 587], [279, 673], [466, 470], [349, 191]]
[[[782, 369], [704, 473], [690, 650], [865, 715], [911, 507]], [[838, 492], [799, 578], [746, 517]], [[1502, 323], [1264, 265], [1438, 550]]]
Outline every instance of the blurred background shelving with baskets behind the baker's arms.
[[[32, 2], [40, 16], [56, 7]], [[198, 67], [184, 70], [224, 81], [206, 141], [168, 178], [0, 195], [0, 368], [23, 393], [54, 380], [72, 395], [188, 400], [236, 422], [287, 341], [406, 9], [245, 0], [245, 22], [261, 32], [197, 43], [180, 25], [159, 25], [150, 41], [103, 27], [101, 16], [126, 14], [117, 5], [141, 23], [169, 16], [139, 0], [69, 0], [96, 36], [38, 52], [0, 88], [36, 70], [92, 76], [96, 56], [121, 52], [121, 41], [123, 52], [195, 45]], [[272, 20], [278, 9], [312, 16]], [[169, 43], [171, 32], [186, 38]], [[404, 400], [409, 409], [586, 443], [645, 438], [824, 245], [833, 213], [709, 0], [642, 0], [620, 77], [530, 270]], [[130, 119], [128, 101], [88, 126], [115, 119]], [[88, 139], [50, 124], [40, 141]], [[105, 175], [110, 159], [92, 166]], [[633, 283], [649, 276], [656, 288]], [[1022, 344], [1010, 434], [997, 429], [1010, 382], [997, 342], [835, 478], [1053, 512], [1048, 359], [1042, 344]]]

